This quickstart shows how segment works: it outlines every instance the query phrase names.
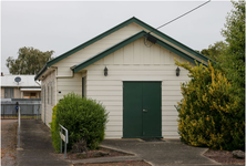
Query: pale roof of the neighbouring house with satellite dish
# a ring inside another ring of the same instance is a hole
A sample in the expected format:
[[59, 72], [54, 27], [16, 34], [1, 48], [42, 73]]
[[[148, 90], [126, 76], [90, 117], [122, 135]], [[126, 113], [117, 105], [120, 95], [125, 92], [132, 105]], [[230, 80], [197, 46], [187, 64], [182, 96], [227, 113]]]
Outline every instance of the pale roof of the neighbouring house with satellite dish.
[[14, 79], [17, 76], [21, 77], [21, 81], [19, 82], [19, 86], [22, 86], [22, 87], [23, 86], [40, 87], [34, 82], [34, 76], [35, 75], [4, 75], [4, 76], [0, 76], [0, 79], [1, 79], [1, 86], [18, 86], [18, 83], [14, 81]]

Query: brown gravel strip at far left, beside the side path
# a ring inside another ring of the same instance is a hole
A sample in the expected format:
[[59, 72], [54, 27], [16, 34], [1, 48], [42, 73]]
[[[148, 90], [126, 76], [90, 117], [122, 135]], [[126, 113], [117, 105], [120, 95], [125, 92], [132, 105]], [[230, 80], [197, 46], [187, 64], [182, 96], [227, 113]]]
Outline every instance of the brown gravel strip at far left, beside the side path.
[[17, 120], [1, 120], [1, 166], [16, 166]]

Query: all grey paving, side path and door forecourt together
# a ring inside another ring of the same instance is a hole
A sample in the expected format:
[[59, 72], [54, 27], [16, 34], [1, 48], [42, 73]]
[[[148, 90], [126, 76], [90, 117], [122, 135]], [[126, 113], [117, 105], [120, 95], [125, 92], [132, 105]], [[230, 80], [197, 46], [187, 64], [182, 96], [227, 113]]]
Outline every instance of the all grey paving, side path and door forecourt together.
[[[217, 166], [203, 156], [207, 148], [192, 147], [178, 139], [144, 142], [142, 139], [105, 139], [101, 146], [135, 156], [101, 157], [80, 160], [64, 159], [52, 147], [50, 129], [37, 120], [22, 120], [21, 148], [17, 152], [18, 166], [72, 166], [81, 163], [145, 160], [153, 166]], [[221, 165], [222, 166], [222, 165]], [[229, 166], [229, 165], [226, 165]]]

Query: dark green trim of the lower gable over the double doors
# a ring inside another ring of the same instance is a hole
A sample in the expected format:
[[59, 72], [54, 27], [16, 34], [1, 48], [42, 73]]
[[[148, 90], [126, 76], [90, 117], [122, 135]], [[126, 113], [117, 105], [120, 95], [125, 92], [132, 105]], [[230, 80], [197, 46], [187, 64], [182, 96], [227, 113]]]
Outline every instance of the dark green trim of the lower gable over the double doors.
[[[121, 48], [123, 48], [123, 46], [125, 46], [125, 45], [134, 42], [135, 40], [137, 40], [137, 39], [140, 39], [140, 38], [142, 38], [142, 37], [146, 37], [146, 35], [151, 35], [151, 34], [148, 34], [146, 31], [141, 31], [141, 32], [139, 32], [139, 33], [136, 33], [136, 34], [127, 38], [126, 40], [124, 40], [124, 41], [122, 41], [122, 42], [113, 45], [112, 48], [110, 48], [110, 49], [107, 49], [107, 50], [105, 50], [105, 51], [103, 51], [103, 52], [101, 52], [101, 53], [99, 53], [99, 54], [96, 54], [96, 55], [88, 59], [86, 61], [84, 61], [84, 62], [82, 62], [82, 63], [80, 63], [80, 64], [78, 64], [78, 65], [73, 69], [73, 72], [76, 73], [76, 72], [79, 72], [80, 70], [82, 70], [82, 69], [84, 69], [84, 68], [86, 68], [86, 66], [95, 63], [96, 61], [99, 61], [99, 60], [101, 60], [101, 59], [103, 59], [103, 58], [105, 58], [106, 55], [109, 55], [109, 54], [117, 51], [119, 49], [121, 49]], [[151, 35], [151, 37], [155, 38], [154, 35]], [[155, 38], [155, 39], [156, 39], [156, 43], [157, 43], [157, 44], [160, 44], [161, 46], [163, 46], [163, 48], [165, 48], [165, 49], [174, 52], [175, 54], [184, 58], [185, 60], [189, 61], [191, 63], [195, 63], [195, 61], [198, 62], [198, 63], [203, 63], [203, 62], [201, 62], [199, 60], [197, 60], [197, 59], [195, 59], [195, 58], [193, 58], [193, 56], [191, 56], [191, 55], [188, 55], [188, 54], [180, 51], [178, 49], [172, 46], [171, 44], [168, 44], [168, 43], [166, 43], [166, 42], [164, 42], [164, 41], [162, 41], [162, 40], [160, 40], [160, 39], [157, 39], [157, 38]], [[207, 60], [208, 60], [208, 59], [206, 59], [206, 61], [204, 61], [204, 62], [207, 62]], [[206, 64], [204, 63], [204, 65], [206, 65]]]

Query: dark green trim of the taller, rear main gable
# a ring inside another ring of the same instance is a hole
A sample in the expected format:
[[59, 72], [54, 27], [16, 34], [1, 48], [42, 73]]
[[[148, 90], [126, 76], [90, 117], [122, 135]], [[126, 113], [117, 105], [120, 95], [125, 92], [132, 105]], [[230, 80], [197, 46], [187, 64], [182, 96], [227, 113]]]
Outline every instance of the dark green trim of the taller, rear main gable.
[[171, 37], [162, 33], [161, 31], [156, 30], [155, 28], [153, 28], [153, 27], [146, 24], [145, 22], [143, 22], [143, 21], [141, 21], [141, 20], [139, 20], [139, 19], [133, 17], [133, 18], [131, 18], [131, 19], [120, 23], [119, 25], [116, 25], [116, 27], [105, 31], [104, 33], [102, 33], [102, 34], [100, 34], [100, 35], [98, 35], [98, 37], [95, 37], [95, 38], [93, 38], [93, 39], [82, 43], [81, 45], [79, 45], [79, 46], [76, 46], [76, 48], [74, 48], [74, 49], [72, 49], [72, 50], [61, 54], [60, 56], [57, 56], [53, 60], [50, 60], [49, 62], [47, 62], [45, 66], [43, 66], [43, 69], [35, 75], [34, 79], [37, 80], [41, 74], [43, 74], [49, 66], [51, 66], [51, 65], [58, 63], [59, 61], [70, 56], [71, 54], [73, 54], [73, 53], [75, 53], [75, 52], [78, 52], [78, 51], [80, 51], [80, 50], [82, 50], [82, 49], [93, 44], [94, 42], [105, 38], [106, 35], [109, 35], [109, 34], [111, 34], [111, 33], [122, 29], [123, 27], [125, 27], [125, 25], [127, 25], [127, 24], [130, 24], [132, 22], [135, 22], [136, 24], [139, 24], [139, 25], [145, 28], [146, 30], [151, 31], [152, 33], [155, 33], [156, 35], [165, 39], [166, 41], [173, 43], [174, 45], [177, 45], [178, 48], [187, 51], [188, 53], [194, 54], [195, 56], [197, 56], [198, 59], [201, 59], [203, 61], [207, 61], [207, 59], [208, 59], [208, 58], [204, 56], [203, 54], [201, 54], [201, 53], [194, 51], [193, 49], [191, 49], [191, 48], [180, 43], [178, 41], [172, 39]]

